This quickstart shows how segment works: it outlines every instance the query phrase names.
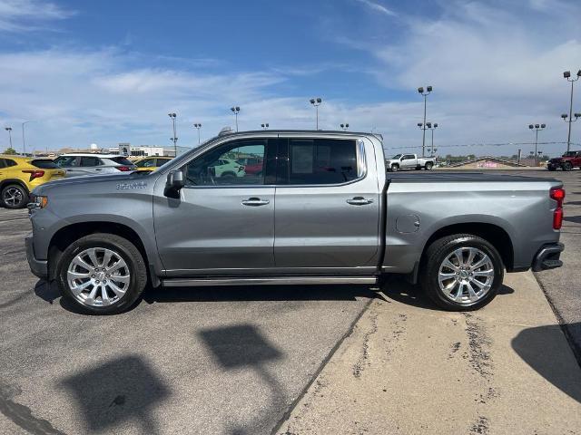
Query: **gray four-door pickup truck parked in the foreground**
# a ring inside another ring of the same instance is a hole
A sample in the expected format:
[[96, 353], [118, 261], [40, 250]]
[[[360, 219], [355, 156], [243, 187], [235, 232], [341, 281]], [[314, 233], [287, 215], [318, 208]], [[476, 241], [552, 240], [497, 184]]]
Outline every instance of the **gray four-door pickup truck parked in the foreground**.
[[[243, 176], [220, 160], [251, 160]], [[127, 310], [146, 285], [419, 282], [440, 307], [487, 304], [507, 272], [561, 266], [554, 179], [388, 173], [381, 138], [224, 134], [149, 173], [34, 189], [28, 262], [84, 312]]]

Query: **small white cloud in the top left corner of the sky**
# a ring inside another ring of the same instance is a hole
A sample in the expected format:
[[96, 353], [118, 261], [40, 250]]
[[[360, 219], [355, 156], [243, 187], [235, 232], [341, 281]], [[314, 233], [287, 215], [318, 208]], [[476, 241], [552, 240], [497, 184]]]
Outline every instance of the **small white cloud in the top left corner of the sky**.
[[37, 0], [0, 0], [0, 31], [24, 32], [36, 30], [39, 24], [62, 20], [73, 15], [50, 2]]

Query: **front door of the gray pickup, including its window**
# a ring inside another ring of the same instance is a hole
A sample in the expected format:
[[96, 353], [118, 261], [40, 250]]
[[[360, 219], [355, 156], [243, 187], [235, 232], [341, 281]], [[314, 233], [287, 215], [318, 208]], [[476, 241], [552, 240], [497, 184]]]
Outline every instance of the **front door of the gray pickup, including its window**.
[[[249, 173], [243, 159], [275, 151], [275, 140], [231, 140], [182, 167], [180, 198], [155, 186], [155, 238], [168, 276], [247, 275], [274, 266], [272, 169]], [[269, 183], [269, 184], [267, 184]]]

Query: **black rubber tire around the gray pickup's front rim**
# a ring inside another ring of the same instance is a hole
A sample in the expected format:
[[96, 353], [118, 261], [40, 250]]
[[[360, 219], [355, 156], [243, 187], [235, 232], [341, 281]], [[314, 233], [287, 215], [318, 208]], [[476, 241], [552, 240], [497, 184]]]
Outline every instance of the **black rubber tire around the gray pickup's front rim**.
[[[129, 269], [130, 279], [125, 294], [117, 302], [105, 306], [84, 304], [71, 291], [67, 281], [68, 267], [74, 257], [85, 249], [110, 249], [123, 258]], [[57, 284], [61, 295], [84, 314], [119, 314], [130, 309], [143, 293], [147, 285], [147, 268], [139, 249], [129, 240], [108, 233], [98, 233], [81, 237], [64, 250], [57, 265]]]

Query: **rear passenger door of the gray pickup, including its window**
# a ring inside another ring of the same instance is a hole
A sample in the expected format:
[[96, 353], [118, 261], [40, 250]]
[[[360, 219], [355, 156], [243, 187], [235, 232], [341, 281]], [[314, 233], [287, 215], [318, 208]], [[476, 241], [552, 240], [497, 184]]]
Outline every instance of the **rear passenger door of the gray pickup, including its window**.
[[277, 268], [369, 273], [379, 250], [378, 181], [367, 170], [376, 164], [372, 143], [289, 137], [279, 149]]

